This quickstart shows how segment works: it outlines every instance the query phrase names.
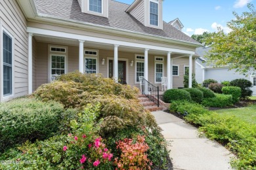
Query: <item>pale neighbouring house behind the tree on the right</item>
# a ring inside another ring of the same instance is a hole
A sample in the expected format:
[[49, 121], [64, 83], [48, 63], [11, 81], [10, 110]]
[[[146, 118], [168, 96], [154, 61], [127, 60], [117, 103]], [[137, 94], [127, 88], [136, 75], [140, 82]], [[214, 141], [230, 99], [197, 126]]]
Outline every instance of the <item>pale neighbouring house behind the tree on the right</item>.
[[203, 48], [199, 47], [196, 48], [196, 54], [200, 56], [200, 58], [196, 59], [196, 81], [202, 84], [203, 80], [206, 79], [214, 79], [217, 80], [219, 83], [223, 81], [231, 81], [237, 78], [244, 78], [246, 80], [251, 81], [253, 84], [253, 95], [256, 95], [256, 75], [253, 73], [248, 73], [248, 75], [241, 75], [240, 73], [236, 72], [235, 69], [229, 70], [228, 67], [212, 67], [211, 65], [208, 66], [203, 56], [206, 52], [208, 52], [211, 48]]

